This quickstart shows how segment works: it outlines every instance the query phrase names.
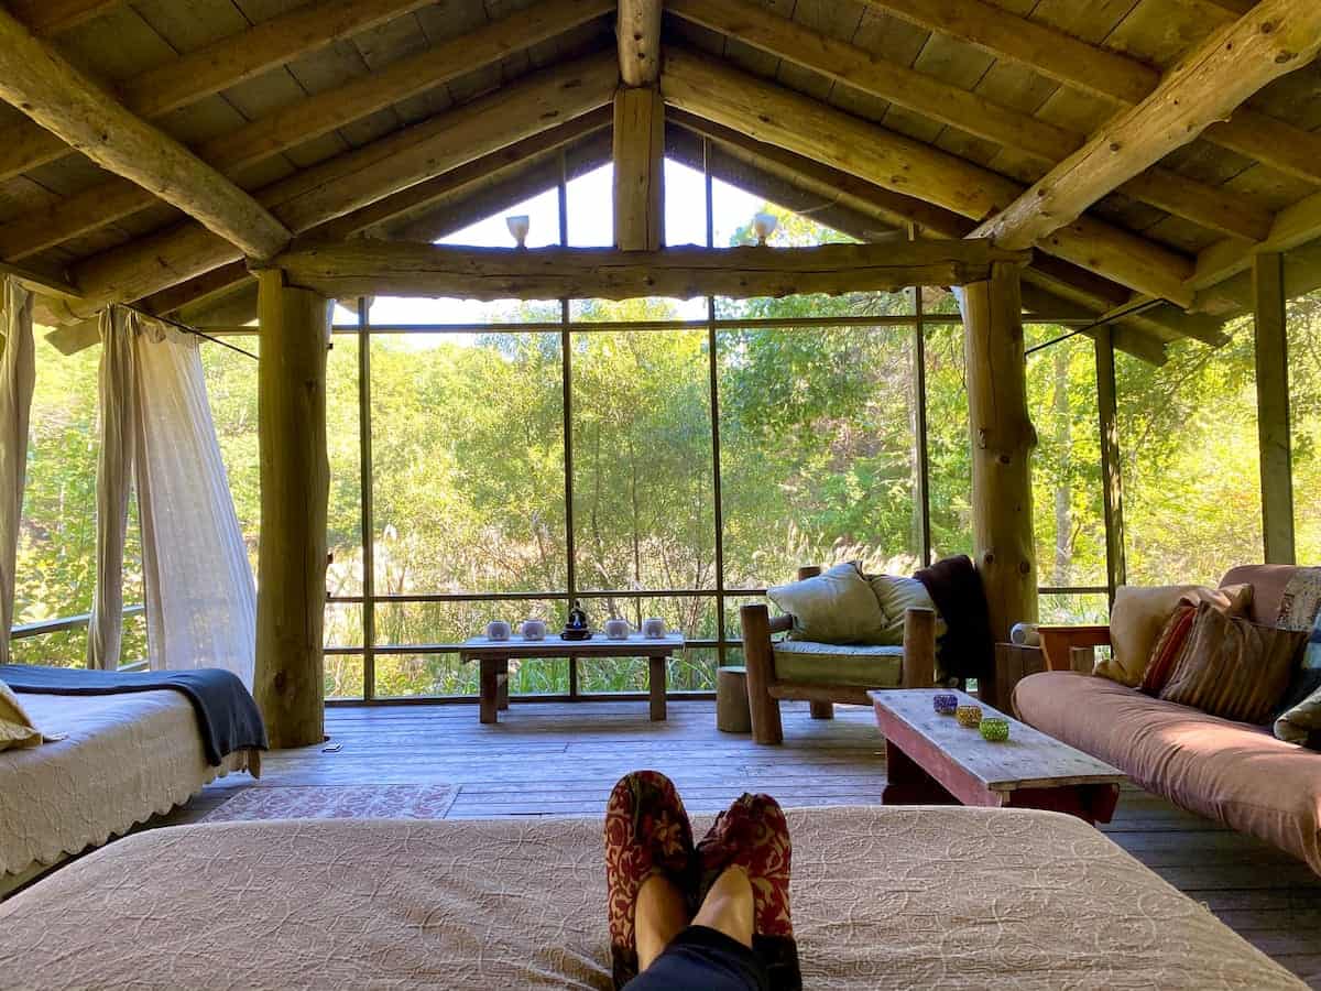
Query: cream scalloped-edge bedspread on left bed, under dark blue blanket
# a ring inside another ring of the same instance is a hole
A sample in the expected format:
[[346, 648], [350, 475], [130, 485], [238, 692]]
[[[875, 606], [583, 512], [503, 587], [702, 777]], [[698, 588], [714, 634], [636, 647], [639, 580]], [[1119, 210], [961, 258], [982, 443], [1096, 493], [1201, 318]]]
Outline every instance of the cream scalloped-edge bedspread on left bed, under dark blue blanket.
[[44, 733], [69, 736], [0, 752], [0, 891], [5, 875], [100, 846], [248, 766], [244, 752], [206, 762], [193, 706], [176, 691], [20, 699]]

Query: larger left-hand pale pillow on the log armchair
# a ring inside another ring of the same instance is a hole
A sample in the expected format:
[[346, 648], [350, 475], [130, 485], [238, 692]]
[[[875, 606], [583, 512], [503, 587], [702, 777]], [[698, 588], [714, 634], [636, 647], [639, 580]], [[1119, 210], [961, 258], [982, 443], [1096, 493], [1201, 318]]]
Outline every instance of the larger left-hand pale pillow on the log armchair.
[[794, 617], [790, 640], [816, 643], [884, 643], [885, 613], [857, 564], [836, 564], [766, 596]]

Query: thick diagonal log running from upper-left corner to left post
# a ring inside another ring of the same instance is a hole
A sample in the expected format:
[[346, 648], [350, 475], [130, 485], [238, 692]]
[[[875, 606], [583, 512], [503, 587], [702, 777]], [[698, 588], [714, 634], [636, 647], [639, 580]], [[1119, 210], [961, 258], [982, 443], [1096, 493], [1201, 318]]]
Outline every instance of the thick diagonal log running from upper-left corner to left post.
[[3, 9], [0, 98], [247, 255], [267, 258], [289, 240], [289, 231], [252, 197], [128, 111]]

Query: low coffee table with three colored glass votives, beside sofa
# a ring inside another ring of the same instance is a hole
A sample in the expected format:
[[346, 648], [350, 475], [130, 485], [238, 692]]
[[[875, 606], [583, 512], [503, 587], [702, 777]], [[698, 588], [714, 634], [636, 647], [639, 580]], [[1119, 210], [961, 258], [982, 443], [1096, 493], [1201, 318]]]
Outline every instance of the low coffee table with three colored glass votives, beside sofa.
[[[885, 805], [980, 805], [1048, 809], [1089, 823], [1110, 822], [1124, 773], [1016, 719], [991, 743], [933, 710], [935, 688], [869, 691], [885, 735]], [[960, 706], [982, 706], [963, 692]]]

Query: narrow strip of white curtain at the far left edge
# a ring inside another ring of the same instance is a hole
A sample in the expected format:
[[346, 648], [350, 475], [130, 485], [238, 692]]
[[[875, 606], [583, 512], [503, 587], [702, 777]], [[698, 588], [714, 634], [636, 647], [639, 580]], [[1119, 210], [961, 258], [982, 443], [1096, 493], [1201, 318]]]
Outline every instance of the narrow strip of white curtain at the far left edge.
[[18, 518], [28, 473], [28, 415], [37, 381], [32, 293], [5, 277], [0, 300], [0, 663], [9, 663]]

